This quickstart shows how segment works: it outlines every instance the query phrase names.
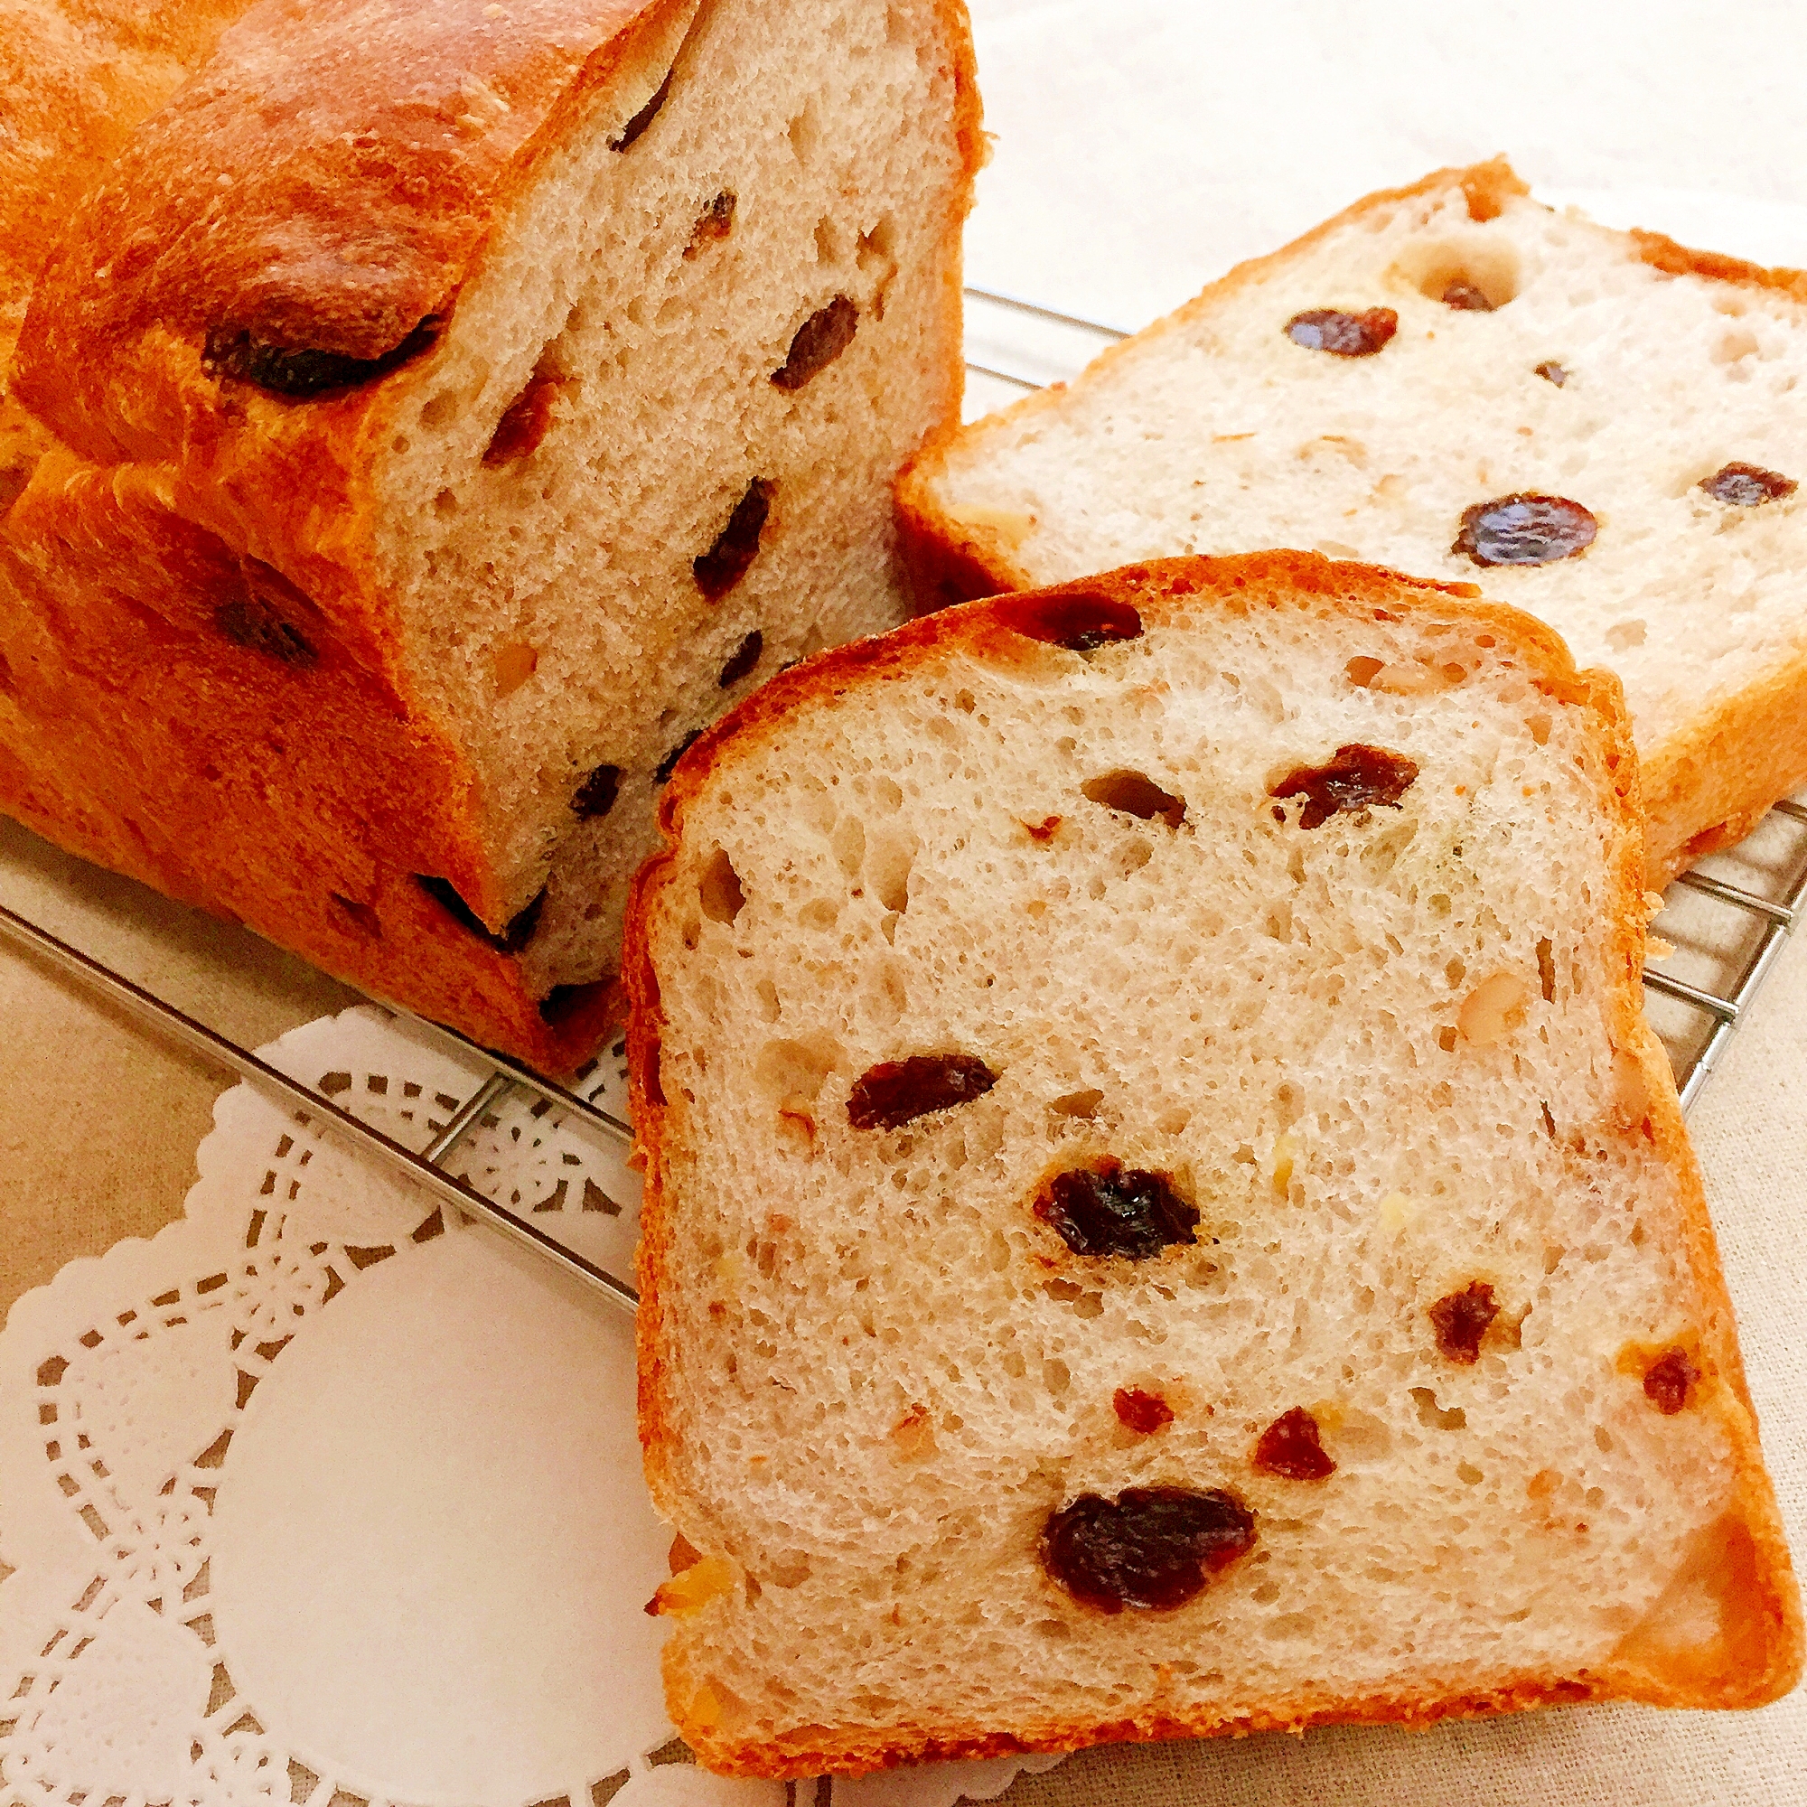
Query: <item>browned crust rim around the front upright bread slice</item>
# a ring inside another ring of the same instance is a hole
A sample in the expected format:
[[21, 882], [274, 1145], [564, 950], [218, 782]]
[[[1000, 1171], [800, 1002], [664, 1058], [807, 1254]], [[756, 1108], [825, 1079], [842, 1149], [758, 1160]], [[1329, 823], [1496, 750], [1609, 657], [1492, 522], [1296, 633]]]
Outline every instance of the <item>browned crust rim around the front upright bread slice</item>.
[[[940, 1717], [923, 1702], [922, 1718], [889, 1735], [878, 1727], [799, 1726], [777, 1737], [748, 1726], [719, 1724], [719, 1700], [707, 1686], [710, 1670], [708, 1619], [679, 1624], [667, 1646], [667, 1695], [674, 1720], [703, 1762], [735, 1774], [811, 1774], [822, 1769], [860, 1773], [889, 1762], [983, 1756], [1023, 1749], [1070, 1749], [1102, 1738], [1162, 1738], [1267, 1727], [1299, 1729], [1334, 1720], [1428, 1722], [1449, 1715], [1505, 1711], [1514, 1708], [1585, 1699], [1637, 1699], [1666, 1706], [1755, 1706], [1785, 1693], [1802, 1662], [1800, 1603], [1787, 1547], [1756, 1444], [1755, 1418], [1737, 1350], [1731, 1305], [1713, 1243], [1700, 1178], [1686, 1142], [1668, 1063], [1643, 1021], [1639, 979], [1646, 900], [1637, 810], [1635, 754], [1619, 698], [1617, 681], [1605, 672], [1576, 672], [1567, 649], [1529, 616], [1473, 602], [1469, 587], [1437, 585], [1402, 578], [1364, 566], [1332, 564], [1306, 553], [1261, 553], [1236, 558], [1185, 558], [1133, 566], [1102, 578], [1025, 596], [994, 598], [949, 609], [880, 640], [822, 654], [782, 674], [712, 728], [679, 763], [661, 808], [667, 853], [640, 873], [629, 909], [623, 979], [632, 1001], [629, 1063], [634, 1119], [640, 1128], [647, 1171], [640, 1285], [643, 1294], [640, 1346], [640, 1424], [647, 1476], [661, 1512], [679, 1531], [714, 1554], [708, 1541], [716, 1527], [716, 1503], [687, 1491], [685, 1433], [690, 1411], [681, 1399], [674, 1278], [683, 1250], [674, 1245], [674, 1218], [683, 1207], [685, 1175], [696, 1164], [688, 1146], [692, 1131], [683, 1100], [669, 1100], [661, 1082], [660, 963], [676, 954], [676, 918], [685, 907], [674, 894], [678, 867], [696, 864], [685, 846], [687, 815], [735, 782], [735, 773], [775, 746], [784, 746], [802, 728], [810, 712], [835, 705], [880, 705], [882, 688], [907, 681], [943, 654], [978, 654], [983, 663], [1010, 663], [1025, 656], [1026, 640], [1059, 638], [1055, 623], [1066, 598], [1106, 598], [1133, 605], [1146, 627], [1158, 627], [1202, 609], [1231, 613], [1259, 609], [1328, 607], [1355, 623], [1458, 613], [1467, 623], [1485, 625], [1512, 656], [1536, 674], [1538, 688], [1579, 710], [1587, 735], [1597, 750], [1590, 766], [1606, 833], [1606, 882], [1610, 894], [1596, 896], [1605, 923], [1601, 956], [1603, 1010], [1615, 1048], [1634, 1055], [1648, 1093], [1648, 1111], [1628, 1129], [1646, 1140], [1652, 1155], [1673, 1178], [1682, 1212], [1682, 1259], [1697, 1288], [1702, 1317], [1702, 1352], [1726, 1388], [1717, 1395], [1717, 1433], [1722, 1433], [1735, 1464], [1735, 1482], [1726, 1514], [1700, 1531], [1708, 1568], [1688, 1570], [1671, 1585], [1657, 1610], [1628, 1634], [1610, 1661], [1590, 1668], [1547, 1673], [1512, 1673], [1485, 1688], [1426, 1677], [1418, 1686], [1393, 1688], [1384, 1695], [1352, 1699], [1330, 1688], [1305, 1686], [1254, 1709], [1232, 1715], [1200, 1711], [1184, 1702], [1156, 1704], [1113, 1724], [1061, 1718], [1025, 1718], [1019, 1724], [960, 1722]], [[1034, 651], [1034, 649], [1028, 649]], [[688, 866], [685, 867], [688, 873]], [[723, 1026], [725, 1028], [725, 1026]], [[1695, 1590], [1690, 1596], [1690, 1588]], [[1699, 1592], [1720, 1610], [1720, 1634], [1699, 1641], [1684, 1630], [1684, 1596], [1699, 1605]], [[735, 1590], [737, 1597], [737, 1590]], [[723, 1606], [728, 1603], [723, 1601]]]

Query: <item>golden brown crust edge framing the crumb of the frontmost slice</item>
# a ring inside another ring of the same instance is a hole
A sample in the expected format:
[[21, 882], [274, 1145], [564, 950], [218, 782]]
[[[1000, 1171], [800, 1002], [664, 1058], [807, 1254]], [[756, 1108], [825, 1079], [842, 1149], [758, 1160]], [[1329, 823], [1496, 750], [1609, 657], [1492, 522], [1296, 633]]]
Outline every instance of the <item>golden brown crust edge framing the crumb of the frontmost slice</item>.
[[[943, 649], [987, 647], [1008, 652], [1023, 645], [1008, 616], [1048, 609], [1068, 596], [1133, 600], [1146, 620], [1160, 622], [1164, 598], [1216, 598], [1225, 607], [1259, 604], [1261, 589], [1288, 600], [1319, 598], [1357, 613], [1458, 607], [1473, 622], [1511, 636], [1540, 681], [1594, 719], [1601, 761], [1596, 772], [1601, 808], [1614, 826], [1608, 855], [1614, 896], [1603, 905], [1612, 929], [1606, 947], [1606, 988], [1615, 1048], [1637, 1061], [1648, 1115], [1639, 1129], [1675, 1171], [1688, 1222], [1688, 1261], [1706, 1305], [1700, 1325], [1709, 1372], [1724, 1384], [1702, 1400], [1726, 1428], [1735, 1451], [1737, 1485], [1731, 1507], [1702, 1525], [1691, 1561], [1646, 1619], [1634, 1626], [1605, 1664], [1576, 1671], [1525, 1671], [1475, 1690], [1449, 1677], [1444, 1688], [1428, 1677], [1417, 1690], [1337, 1697], [1301, 1690], [1249, 1713], [1160, 1711], [1149, 1708], [1113, 1724], [1050, 1718], [1008, 1731], [976, 1724], [898, 1727], [875, 1737], [858, 1727], [801, 1726], [773, 1738], [746, 1738], [717, 1729], [710, 1691], [692, 1671], [694, 1634], [679, 1630], [665, 1646], [667, 1702], [678, 1731], [705, 1767], [734, 1776], [811, 1776], [826, 1771], [862, 1774], [900, 1762], [983, 1758], [1032, 1751], [1072, 1751], [1090, 1744], [1209, 1737], [1249, 1731], [1301, 1731], [1317, 1724], [1408, 1724], [1521, 1711], [1579, 1700], [1639, 1700], [1653, 1706], [1753, 1708], [1787, 1693], [1802, 1673], [1802, 1606], [1784, 1538], [1774, 1491], [1764, 1467], [1731, 1299], [1706, 1209], [1700, 1171], [1682, 1124], [1668, 1057], [1644, 1021], [1641, 1003], [1644, 950], [1644, 860], [1637, 788], [1637, 754], [1619, 679], [1605, 670], [1578, 672], [1561, 638], [1532, 616], [1478, 598], [1473, 585], [1435, 584], [1375, 566], [1339, 564], [1317, 553], [1269, 551], [1227, 558], [1164, 558], [1126, 566], [1102, 576], [1052, 585], [1030, 596], [970, 602], [923, 616], [891, 634], [817, 654], [781, 674], [710, 728], [678, 764], [660, 808], [665, 851], [640, 871], [627, 911], [623, 983], [632, 1014], [627, 1055], [634, 1122], [645, 1162], [645, 1200], [636, 1278], [641, 1310], [636, 1326], [640, 1361], [640, 1437], [647, 1482], [660, 1512], [685, 1529], [685, 1500], [674, 1480], [672, 1455], [679, 1429], [669, 1400], [663, 1290], [670, 1269], [674, 1160], [667, 1131], [669, 1106], [660, 1084], [658, 974], [651, 922], [672, 878], [685, 813], [710, 781], [746, 748], [784, 730], [795, 710], [829, 701], [851, 688], [882, 683], [914, 669]], [[1278, 605], [1278, 604], [1270, 604]], [[1715, 1538], [1718, 1540], [1715, 1543]], [[1720, 1632], [1706, 1644], [1666, 1637], [1677, 1624], [1699, 1623], [1706, 1603]], [[701, 1626], [699, 1626], [701, 1630]]]

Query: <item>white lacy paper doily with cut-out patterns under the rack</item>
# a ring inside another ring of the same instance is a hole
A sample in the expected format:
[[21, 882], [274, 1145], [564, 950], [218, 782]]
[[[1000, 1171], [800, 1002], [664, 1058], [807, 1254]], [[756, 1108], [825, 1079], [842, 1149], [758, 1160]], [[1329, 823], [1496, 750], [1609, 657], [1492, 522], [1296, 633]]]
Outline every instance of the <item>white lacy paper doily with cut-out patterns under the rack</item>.
[[[486, 1077], [374, 1008], [264, 1055], [414, 1147]], [[445, 1166], [631, 1269], [638, 1178], [544, 1102]], [[248, 1086], [197, 1169], [0, 1332], [0, 1803], [950, 1807], [1052, 1767], [688, 1764], [627, 1315]]]

